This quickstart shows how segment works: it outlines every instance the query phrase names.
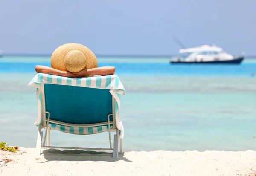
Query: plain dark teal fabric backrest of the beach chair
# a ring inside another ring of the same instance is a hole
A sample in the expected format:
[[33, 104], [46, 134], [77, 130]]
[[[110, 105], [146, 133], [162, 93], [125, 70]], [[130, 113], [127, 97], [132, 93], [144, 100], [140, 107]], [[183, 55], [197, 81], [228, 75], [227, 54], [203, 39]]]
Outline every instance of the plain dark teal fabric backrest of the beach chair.
[[112, 114], [112, 95], [108, 89], [44, 84], [44, 96], [51, 120], [94, 124], [107, 122]]

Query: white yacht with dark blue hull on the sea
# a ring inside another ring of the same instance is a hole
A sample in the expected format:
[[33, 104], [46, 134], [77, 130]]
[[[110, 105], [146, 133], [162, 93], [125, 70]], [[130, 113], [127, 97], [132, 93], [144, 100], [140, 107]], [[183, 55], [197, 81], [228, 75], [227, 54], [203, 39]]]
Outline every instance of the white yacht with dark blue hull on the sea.
[[178, 57], [171, 59], [170, 63], [230, 63], [240, 64], [244, 60], [244, 56], [234, 57], [224, 52], [222, 48], [217, 46], [203, 45], [195, 48], [180, 49], [180, 53], [186, 53], [187, 57]]

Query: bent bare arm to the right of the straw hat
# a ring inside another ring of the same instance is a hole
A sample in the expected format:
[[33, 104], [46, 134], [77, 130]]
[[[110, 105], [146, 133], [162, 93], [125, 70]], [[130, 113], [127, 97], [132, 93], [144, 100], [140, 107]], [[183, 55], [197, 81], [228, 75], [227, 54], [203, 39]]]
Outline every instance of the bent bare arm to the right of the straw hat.
[[94, 69], [83, 69], [80, 72], [75, 73], [79, 77], [93, 76], [93, 75], [113, 75], [116, 72], [116, 68], [113, 66], [102, 66]]

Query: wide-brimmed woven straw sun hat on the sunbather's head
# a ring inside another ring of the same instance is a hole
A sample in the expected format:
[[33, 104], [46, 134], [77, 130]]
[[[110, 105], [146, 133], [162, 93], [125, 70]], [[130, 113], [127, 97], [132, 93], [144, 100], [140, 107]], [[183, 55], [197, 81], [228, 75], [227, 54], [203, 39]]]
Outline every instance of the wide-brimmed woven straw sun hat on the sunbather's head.
[[51, 66], [61, 71], [76, 73], [82, 69], [97, 68], [98, 61], [87, 47], [78, 43], [67, 43], [52, 53]]

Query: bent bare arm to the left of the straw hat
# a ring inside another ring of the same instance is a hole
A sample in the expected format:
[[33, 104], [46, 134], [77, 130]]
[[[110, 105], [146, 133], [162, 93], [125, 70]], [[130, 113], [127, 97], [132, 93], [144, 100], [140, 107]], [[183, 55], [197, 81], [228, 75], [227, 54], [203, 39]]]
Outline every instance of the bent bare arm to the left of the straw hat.
[[48, 66], [41, 66], [41, 65], [35, 66], [35, 71], [37, 73], [45, 73], [45, 74], [50, 74], [50, 75], [58, 75], [58, 76], [71, 77], [71, 78], [79, 77], [79, 75], [76, 75], [76, 74], [73, 74], [70, 72], [64, 72], [64, 71], [60, 71], [57, 69], [53, 69]]

